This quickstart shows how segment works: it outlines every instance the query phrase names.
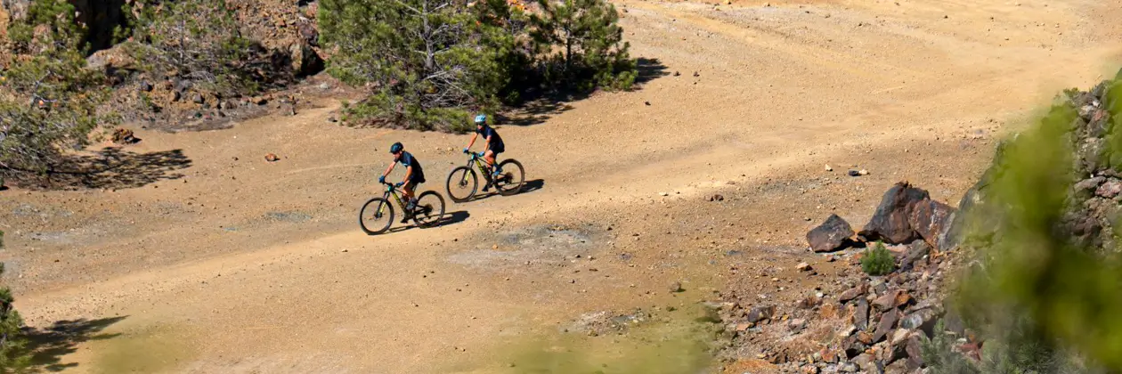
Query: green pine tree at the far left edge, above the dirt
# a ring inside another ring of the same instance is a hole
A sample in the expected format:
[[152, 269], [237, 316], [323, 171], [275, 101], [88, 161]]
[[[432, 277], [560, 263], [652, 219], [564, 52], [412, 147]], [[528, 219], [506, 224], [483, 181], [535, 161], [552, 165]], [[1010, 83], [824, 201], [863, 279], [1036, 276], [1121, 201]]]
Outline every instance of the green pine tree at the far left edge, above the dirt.
[[49, 174], [65, 149], [85, 146], [99, 125], [116, 120], [98, 111], [105, 79], [84, 69], [83, 29], [65, 0], [33, 2], [8, 35], [17, 57], [0, 77], [0, 174]]

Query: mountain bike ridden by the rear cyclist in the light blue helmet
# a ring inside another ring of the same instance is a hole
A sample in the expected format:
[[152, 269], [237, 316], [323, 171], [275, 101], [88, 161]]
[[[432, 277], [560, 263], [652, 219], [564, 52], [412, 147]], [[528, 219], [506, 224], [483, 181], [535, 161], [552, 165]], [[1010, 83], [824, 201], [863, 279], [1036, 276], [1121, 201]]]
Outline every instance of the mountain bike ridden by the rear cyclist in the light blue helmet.
[[476, 195], [476, 189], [479, 186], [479, 176], [476, 175], [476, 170], [479, 170], [479, 174], [484, 175], [484, 182], [488, 186], [494, 186], [504, 197], [522, 191], [522, 184], [525, 183], [526, 176], [525, 170], [522, 168], [522, 163], [513, 158], [507, 158], [498, 163], [498, 168], [503, 173], [495, 176], [491, 175], [490, 167], [484, 161], [481, 153], [472, 152], [469, 154], [471, 158], [468, 158], [466, 166], [456, 167], [448, 174], [448, 183], [444, 188], [452, 201], [470, 201]]

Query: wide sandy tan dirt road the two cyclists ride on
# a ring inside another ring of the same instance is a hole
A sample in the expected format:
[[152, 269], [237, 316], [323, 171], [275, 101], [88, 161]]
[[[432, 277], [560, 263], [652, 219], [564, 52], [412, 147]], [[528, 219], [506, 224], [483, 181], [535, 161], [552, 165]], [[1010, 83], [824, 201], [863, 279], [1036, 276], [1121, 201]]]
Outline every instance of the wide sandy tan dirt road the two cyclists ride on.
[[812, 258], [807, 228], [861, 225], [896, 181], [956, 202], [995, 138], [1122, 52], [1122, 9], [1089, 0], [618, 7], [640, 88], [504, 119], [534, 189], [452, 204], [443, 227], [369, 237], [357, 209], [393, 142], [443, 193], [467, 137], [340, 127], [338, 100], [138, 128], [96, 189], [0, 192], [17, 307], [35, 327], [67, 321], [37, 364], [509, 371], [509, 344], [582, 313], [687, 308], [730, 262]]

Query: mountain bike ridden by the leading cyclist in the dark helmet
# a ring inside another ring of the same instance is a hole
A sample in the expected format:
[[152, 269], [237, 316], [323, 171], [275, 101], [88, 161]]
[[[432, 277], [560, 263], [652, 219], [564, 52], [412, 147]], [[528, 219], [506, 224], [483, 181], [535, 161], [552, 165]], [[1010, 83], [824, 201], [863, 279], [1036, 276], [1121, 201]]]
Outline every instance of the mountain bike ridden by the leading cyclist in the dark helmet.
[[444, 198], [440, 193], [435, 191], [422, 192], [417, 195], [417, 206], [410, 212], [397, 186], [387, 182], [381, 182], [381, 184], [386, 185], [381, 198], [368, 200], [358, 212], [358, 225], [367, 235], [386, 232], [394, 224], [394, 204], [389, 202], [390, 195], [402, 208], [402, 212], [408, 215], [407, 219], [413, 219], [413, 222], [420, 228], [433, 227], [444, 217]]

